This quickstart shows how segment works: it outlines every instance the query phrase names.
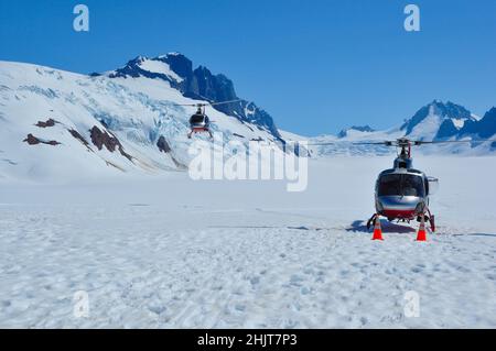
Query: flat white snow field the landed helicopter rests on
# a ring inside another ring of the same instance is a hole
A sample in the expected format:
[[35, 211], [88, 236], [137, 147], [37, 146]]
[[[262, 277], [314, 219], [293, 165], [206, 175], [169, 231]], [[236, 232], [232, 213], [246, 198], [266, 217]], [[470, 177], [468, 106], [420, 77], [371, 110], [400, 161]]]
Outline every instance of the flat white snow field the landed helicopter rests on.
[[390, 165], [314, 160], [303, 193], [185, 173], [0, 178], [0, 328], [495, 328], [494, 158], [416, 160], [441, 182], [428, 242], [417, 223], [384, 221], [384, 242], [364, 227]]

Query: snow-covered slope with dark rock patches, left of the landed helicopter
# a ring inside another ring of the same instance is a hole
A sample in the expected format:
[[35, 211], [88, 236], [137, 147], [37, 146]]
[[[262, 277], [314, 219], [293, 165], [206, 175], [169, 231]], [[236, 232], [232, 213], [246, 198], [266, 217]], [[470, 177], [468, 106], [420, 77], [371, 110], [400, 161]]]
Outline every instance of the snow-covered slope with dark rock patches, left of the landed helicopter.
[[[0, 62], [0, 177], [53, 182], [185, 169], [188, 118], [195, 108], [179, 105], [202, 100], [185, 97], [179, 87], [185, 78], [163, 58], [133, 62], [139, 65], [133, 75], [116, 70], [89, 76]], [[250, 120], [250, 113], [263, 117], [262, 110], [239, 103], [246, 113], [230, 113], [237, 106], [226, 110], [231, 116], [207, 110], [213, 132], [224, 135], [220, 142], [280, 145], [272, 119]]]

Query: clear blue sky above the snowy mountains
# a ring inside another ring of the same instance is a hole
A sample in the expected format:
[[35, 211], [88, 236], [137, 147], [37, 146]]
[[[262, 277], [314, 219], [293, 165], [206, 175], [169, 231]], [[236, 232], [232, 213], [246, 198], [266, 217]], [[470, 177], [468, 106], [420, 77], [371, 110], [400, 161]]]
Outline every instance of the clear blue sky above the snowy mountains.
[[[73, 31], [73, 8], [90, 32]], [[421, 32], [403, 8], [421, 9]], [[495, 0], [1, 0], [0, 59], [79, 73], [177, 51], [280, 128], [389, 128], [433, 99], [496, 106]]]

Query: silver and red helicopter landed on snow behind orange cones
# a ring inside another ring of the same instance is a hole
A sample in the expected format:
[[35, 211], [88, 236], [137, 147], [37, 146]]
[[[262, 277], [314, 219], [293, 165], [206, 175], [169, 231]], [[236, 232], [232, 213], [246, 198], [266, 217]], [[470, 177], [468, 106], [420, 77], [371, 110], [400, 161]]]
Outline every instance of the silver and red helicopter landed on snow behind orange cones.
[[[477, 142], [487, 140], [477, 140]], [[376, 180], [375, 206], [376, 212], [367, 221], [367, 229], [376, 226], [380, 217], [389, 221], [398, 220], [410, 222], [429, 222], [432, 232], [435, 232], [434, 215], [429, 208], [429, 196], [439, 187], [439, 179], [427, 176], [423, 172], [413, 168], [411, 147], [424, 144], [467, 143], [460, 141], [412, 141], [400, 138], [384, 142], [357, 142], [355, 145], [385, 145], [397, 147], [399, 152], [390, 169], [382, 171]], [[328, 145], [334, 143], [317, 143], [311, 145]]]

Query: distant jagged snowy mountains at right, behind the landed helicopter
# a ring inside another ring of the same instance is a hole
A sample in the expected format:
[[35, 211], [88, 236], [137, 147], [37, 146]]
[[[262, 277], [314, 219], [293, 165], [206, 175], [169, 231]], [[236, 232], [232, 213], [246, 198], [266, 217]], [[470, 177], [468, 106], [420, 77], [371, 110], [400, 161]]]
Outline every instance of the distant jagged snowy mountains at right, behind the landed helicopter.
[[[463, 106], [448, 101], [433, 100], [421, 107], [411, 118], [398, 127], [379, 131], [369, 125], [354, 125], [335, 135], [311, 138], [312, 155], [364, 155], [389, 154], [393, 152], [381, 145], [359, 145], [356, 142], [379, 142], [398, 138], [422, 141], [466, 141], [466, 143], [446, 143], [422, 146], [420, 152], [487, 155], [496, 151], [496, 108], [487, 111], [483, 118], [472, 113]], [[483, 141], [487, 140], [489, 141]], [[493, 140], [494, 139], [494, 140]]]

